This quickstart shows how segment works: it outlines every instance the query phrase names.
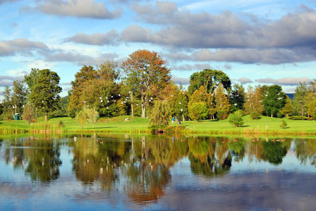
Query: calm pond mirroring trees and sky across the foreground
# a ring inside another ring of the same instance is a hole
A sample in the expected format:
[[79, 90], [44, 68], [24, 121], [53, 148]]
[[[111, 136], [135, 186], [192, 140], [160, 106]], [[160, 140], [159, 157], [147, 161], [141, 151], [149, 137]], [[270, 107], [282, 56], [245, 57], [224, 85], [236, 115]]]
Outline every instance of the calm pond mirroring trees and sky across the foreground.
[[3, 136], [0, 207], [315, 210], [315, 151], [303, 137]]

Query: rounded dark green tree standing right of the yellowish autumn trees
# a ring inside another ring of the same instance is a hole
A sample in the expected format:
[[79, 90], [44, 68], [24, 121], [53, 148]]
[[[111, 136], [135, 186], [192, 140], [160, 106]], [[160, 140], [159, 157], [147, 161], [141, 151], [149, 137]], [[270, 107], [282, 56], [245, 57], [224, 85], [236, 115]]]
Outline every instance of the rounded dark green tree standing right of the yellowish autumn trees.
[[263, 105], [265, 105], [264, 108], [267, 115], [271, 115], [271, 117], [277, 116], [277, 113], [284, 108], [285, 103], [286, 94], [282, 91], [281, 86], [269, 86], [263, 98]]

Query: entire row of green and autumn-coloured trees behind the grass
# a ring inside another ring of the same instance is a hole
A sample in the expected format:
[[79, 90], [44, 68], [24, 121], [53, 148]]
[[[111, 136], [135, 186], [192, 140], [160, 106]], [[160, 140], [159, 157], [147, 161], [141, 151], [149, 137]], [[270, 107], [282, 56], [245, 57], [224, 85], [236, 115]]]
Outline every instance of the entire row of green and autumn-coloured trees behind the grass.
[[[171, 116], [178, 120], [224, 120], [230, 113], [270, 117], [316, 117], [316, 79], [300, 82], [291, 100], [281, 86], [248, 87], [231, 84], [221, 70], [205, 69], [190, 76], [188, 89], [171, 80], [171, 68], [154, 51], [138, 50], [119, 63], [106, 60], [83, 65], [71, 82], [68, 96], [61, 98], [60, 77], [51, 70], [32, 69], [23, 80], [5, 87], [1, 120], [20, 114], [30, 122], [39, 116], [69, 116], [83, 125], [99, 117], [131, 115], [150, 117], [162, 124]], [[84, 109], [85, 108], [85, 109]]]

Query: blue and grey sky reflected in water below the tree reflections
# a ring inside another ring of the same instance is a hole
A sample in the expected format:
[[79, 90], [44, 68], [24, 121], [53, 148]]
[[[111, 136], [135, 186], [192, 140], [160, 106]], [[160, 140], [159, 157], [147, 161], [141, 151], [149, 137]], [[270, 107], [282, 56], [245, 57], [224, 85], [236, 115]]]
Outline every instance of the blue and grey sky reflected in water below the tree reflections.
[[[313, 210], [316, 206], [315, 167], [300, 163], [291, 146], [281, 165], [249, 162], [248, 155], [224, 176], [193, 174], [188, 157], [170, 167], [171, 180], [159, 203], [145, 206], [126, 196], [126, 177], [107, 193], [98, 182], [84, 185], [75, 178], [72, 148], [61, 146], [59, 177], [31, 181], [25, 169], [13, 170], [0, 148], [0, 210]], [[26, 165], [25, 167], [26, 168]], [[268, 170], [268, 171], [267, 171]]]

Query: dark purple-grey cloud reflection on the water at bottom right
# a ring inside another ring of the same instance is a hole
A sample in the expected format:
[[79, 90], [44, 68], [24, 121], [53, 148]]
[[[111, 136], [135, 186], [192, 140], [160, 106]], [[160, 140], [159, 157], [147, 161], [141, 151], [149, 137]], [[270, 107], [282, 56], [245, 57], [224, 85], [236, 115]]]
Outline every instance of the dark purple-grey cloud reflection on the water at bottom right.
[[[291, 172], [229, 174], [221, 179], [205, 179], [201, 188], [185, 188], [175, 183], [173, 193], [167, 193], [161, 201], [170, 210], [188, 210], [193, 206], [192, 210], [273, 210], [278, 207], [281, 210], [314, 210], [314, 177], [313, 174]], [[172, 179], [178, 180], [180, 176]], [[309, 196], [308, 200], [305, 196]], [[212, 203], [207, 203], [210, 200]]]

